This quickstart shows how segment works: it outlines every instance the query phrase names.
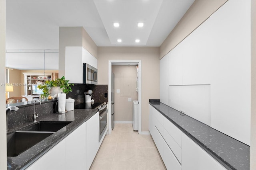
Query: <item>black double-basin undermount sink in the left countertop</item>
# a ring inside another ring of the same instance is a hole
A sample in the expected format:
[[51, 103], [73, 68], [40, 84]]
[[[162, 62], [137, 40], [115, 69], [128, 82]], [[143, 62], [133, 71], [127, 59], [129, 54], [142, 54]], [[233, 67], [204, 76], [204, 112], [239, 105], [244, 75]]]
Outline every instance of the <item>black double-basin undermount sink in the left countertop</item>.
[[7, 156], [18, 156], [71, 122], [39, 121], [19, 131], [7, 134]]

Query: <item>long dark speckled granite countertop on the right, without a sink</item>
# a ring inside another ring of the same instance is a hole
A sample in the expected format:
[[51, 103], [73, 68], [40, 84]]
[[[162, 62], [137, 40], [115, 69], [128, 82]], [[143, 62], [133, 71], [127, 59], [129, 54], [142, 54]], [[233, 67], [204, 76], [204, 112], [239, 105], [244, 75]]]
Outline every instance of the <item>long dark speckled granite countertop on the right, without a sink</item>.
[[192, 117], [180, 115], [179, 111], [162, 104], [160, 100], [149, 100], [149, 103], [227, 169], [250, 169], [248, 145]]

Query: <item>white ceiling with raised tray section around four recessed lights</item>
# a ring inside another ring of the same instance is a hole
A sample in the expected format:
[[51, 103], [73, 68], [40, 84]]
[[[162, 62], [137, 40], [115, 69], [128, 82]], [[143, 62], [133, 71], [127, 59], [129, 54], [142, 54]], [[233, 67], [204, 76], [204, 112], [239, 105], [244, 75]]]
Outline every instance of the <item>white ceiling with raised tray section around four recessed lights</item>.
[[[58, 49], [59, 27], [69, 26], [84, 27], [99, 47], [159, 47], [193, 2], [7, 0], [6, 49]], [[120, 26], [114, 27], [114, 22]], [[143, 22], [144, 27], [137, 27], [138, 22]]]

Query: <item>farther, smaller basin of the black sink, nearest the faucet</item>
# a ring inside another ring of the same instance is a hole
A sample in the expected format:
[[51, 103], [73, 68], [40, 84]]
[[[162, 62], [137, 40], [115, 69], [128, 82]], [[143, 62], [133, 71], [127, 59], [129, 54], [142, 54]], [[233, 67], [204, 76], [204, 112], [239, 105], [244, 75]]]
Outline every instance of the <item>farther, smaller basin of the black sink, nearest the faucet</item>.
[[38, 123], [30, 125], [20, 131], [45, 131], [45, 132], [56, 132], [62, 127], [65, 127], [71, 123], [70, 121], [38, 121]]

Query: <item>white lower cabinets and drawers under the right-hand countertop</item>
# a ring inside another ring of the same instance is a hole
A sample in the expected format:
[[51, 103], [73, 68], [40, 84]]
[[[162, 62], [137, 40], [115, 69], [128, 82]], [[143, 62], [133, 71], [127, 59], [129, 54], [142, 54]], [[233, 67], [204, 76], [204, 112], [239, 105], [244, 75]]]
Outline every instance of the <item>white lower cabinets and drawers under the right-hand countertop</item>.
[[226, 169], [151, 105], [149, 111], [149, 131], [167, 170]]

